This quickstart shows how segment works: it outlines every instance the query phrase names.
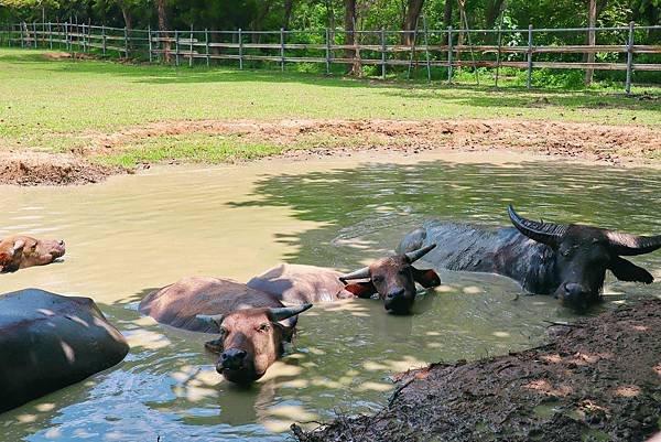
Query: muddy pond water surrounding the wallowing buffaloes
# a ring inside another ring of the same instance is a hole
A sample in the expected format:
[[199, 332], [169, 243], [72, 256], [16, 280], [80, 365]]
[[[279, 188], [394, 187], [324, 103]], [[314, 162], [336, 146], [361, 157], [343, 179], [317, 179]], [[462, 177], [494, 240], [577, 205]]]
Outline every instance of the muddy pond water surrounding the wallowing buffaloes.
[[[247, 280], [281, 261], [350, 270], [427, 217], [506, 224], [505, 207], [545, 219], [661, 231], [661, 171], [476, 154], [369, 157], [217, 169], [161, 169], [71, 188], [0, 187], [0, 237], [64, 238], [66, 259], [0, 278], [94, 298], [129, 338], [126, 360], [0, 416], [2, 440], [284, 440], [290, 423], [376, 410], [397, 371], [540, 344], [544, 321], [572, 319], [488, 274], [441, 272], [415, 313], [376, 301], [316, 305], [286, 357], [241, 389], [223, 381], [208, 335], [141, 317], [150, 289], [184, 276]], [[661, 277], [661, 254], [635, 258]], [[602, 309], [650, 287], [609, 279]]]

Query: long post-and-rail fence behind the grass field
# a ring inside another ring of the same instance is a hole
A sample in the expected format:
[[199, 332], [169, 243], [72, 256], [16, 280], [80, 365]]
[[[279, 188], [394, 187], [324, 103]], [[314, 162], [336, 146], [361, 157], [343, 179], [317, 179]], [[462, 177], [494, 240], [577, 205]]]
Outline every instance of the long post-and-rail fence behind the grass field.
[[[534, 68], [626, 71], [629, 94], [633, 72], [661, 72], [661, 45], [641, 42], [651, 31], [661, 31], [661, 26], [631, 22], [628, 26], [572, 29], [158, 31], [67, 22], [7, 24], [0, 29], [0, 45], [145, 58], [177, 66], [225, 61], [243, 68], [246, 62], [270, 62], [284, 71], [288, 63], [311, 63], [325, 65], [328, 74], [334, 64], [379, 66], [383, 78], [388, 66], [407, 67], [408, 76], [413, 67], [422, 67], [430, 80], [432, 67], [443, 67], [448, 83], [453, 69], [462, 67], [473, 68], [479, 83], [477, 68], [488, 67], [496, 68], [496, 85], [499, 68], [510, 67], [527, 71], [529, 88]], [[597, 41], [608, 34], [610, 42], [619, 44], [582, 44], [588, 32], [594, 32]], [[598, 54], [600, 60], [587, 62], [587, 54]], [[635, 62], [636, 55], [643, 54], [646, 62]], [[567, 55], [571, 60], [565, 60]]]

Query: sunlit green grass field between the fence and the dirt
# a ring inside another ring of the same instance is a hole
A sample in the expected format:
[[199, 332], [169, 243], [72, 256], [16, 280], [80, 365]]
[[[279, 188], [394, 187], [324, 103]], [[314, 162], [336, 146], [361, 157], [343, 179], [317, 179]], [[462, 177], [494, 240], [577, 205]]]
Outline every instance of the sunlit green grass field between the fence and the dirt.
[[[611, 93], [447, 87], [232, 68], [53, 61], [43, 51], [0, 50], [0, 148], [72, 151], [90, 136], [162, 120], [285, 118], [516, 118], [661, 126], [661, 100]], [[633, 91], [659, 89], [636, 88]], [[270, 154], [227, 143], [213, 155], [195, 134], [156, 137], [116, 162]], [[169, 150], [170, 149], [170, 150]], [[207, 152], [208, 153], [208, 152]], [[151, 157], [150, 157], [151, 155]]]

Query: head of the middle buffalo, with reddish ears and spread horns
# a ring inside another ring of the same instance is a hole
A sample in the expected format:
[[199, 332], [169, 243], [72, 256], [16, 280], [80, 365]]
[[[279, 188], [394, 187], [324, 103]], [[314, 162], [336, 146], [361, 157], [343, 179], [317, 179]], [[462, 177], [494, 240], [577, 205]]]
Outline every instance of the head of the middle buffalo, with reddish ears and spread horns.
[[441, 283], [441, 278], [434, 270], [419, 270], [412, 266], [434, 247], [435, 244], [408, 254], [379, 259], [369, 267], [340, 277], [339, 280], [346, 283], [351, 279], [369, 279], [367, 282], [347, 284], [345, 289], [359, 298], [379, 293], [386, 310], [398, 314], [409, 313], [415, 302], [415, 282], [425, 289]]

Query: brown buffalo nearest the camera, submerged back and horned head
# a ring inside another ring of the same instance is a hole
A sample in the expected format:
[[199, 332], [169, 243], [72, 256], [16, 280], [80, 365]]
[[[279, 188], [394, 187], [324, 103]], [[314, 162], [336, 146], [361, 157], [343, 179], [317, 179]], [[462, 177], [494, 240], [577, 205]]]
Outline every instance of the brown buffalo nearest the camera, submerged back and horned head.
[[219, 353], [216, 371], [249, 384], [261, 378], [282, 355], [297, 314], [312, 304], [284, 306], [274, 297], [236, 281], [184, 278], [148, 294], [140, 311], [158, 322], [193, 332], [218, 333], [207, 348]]

